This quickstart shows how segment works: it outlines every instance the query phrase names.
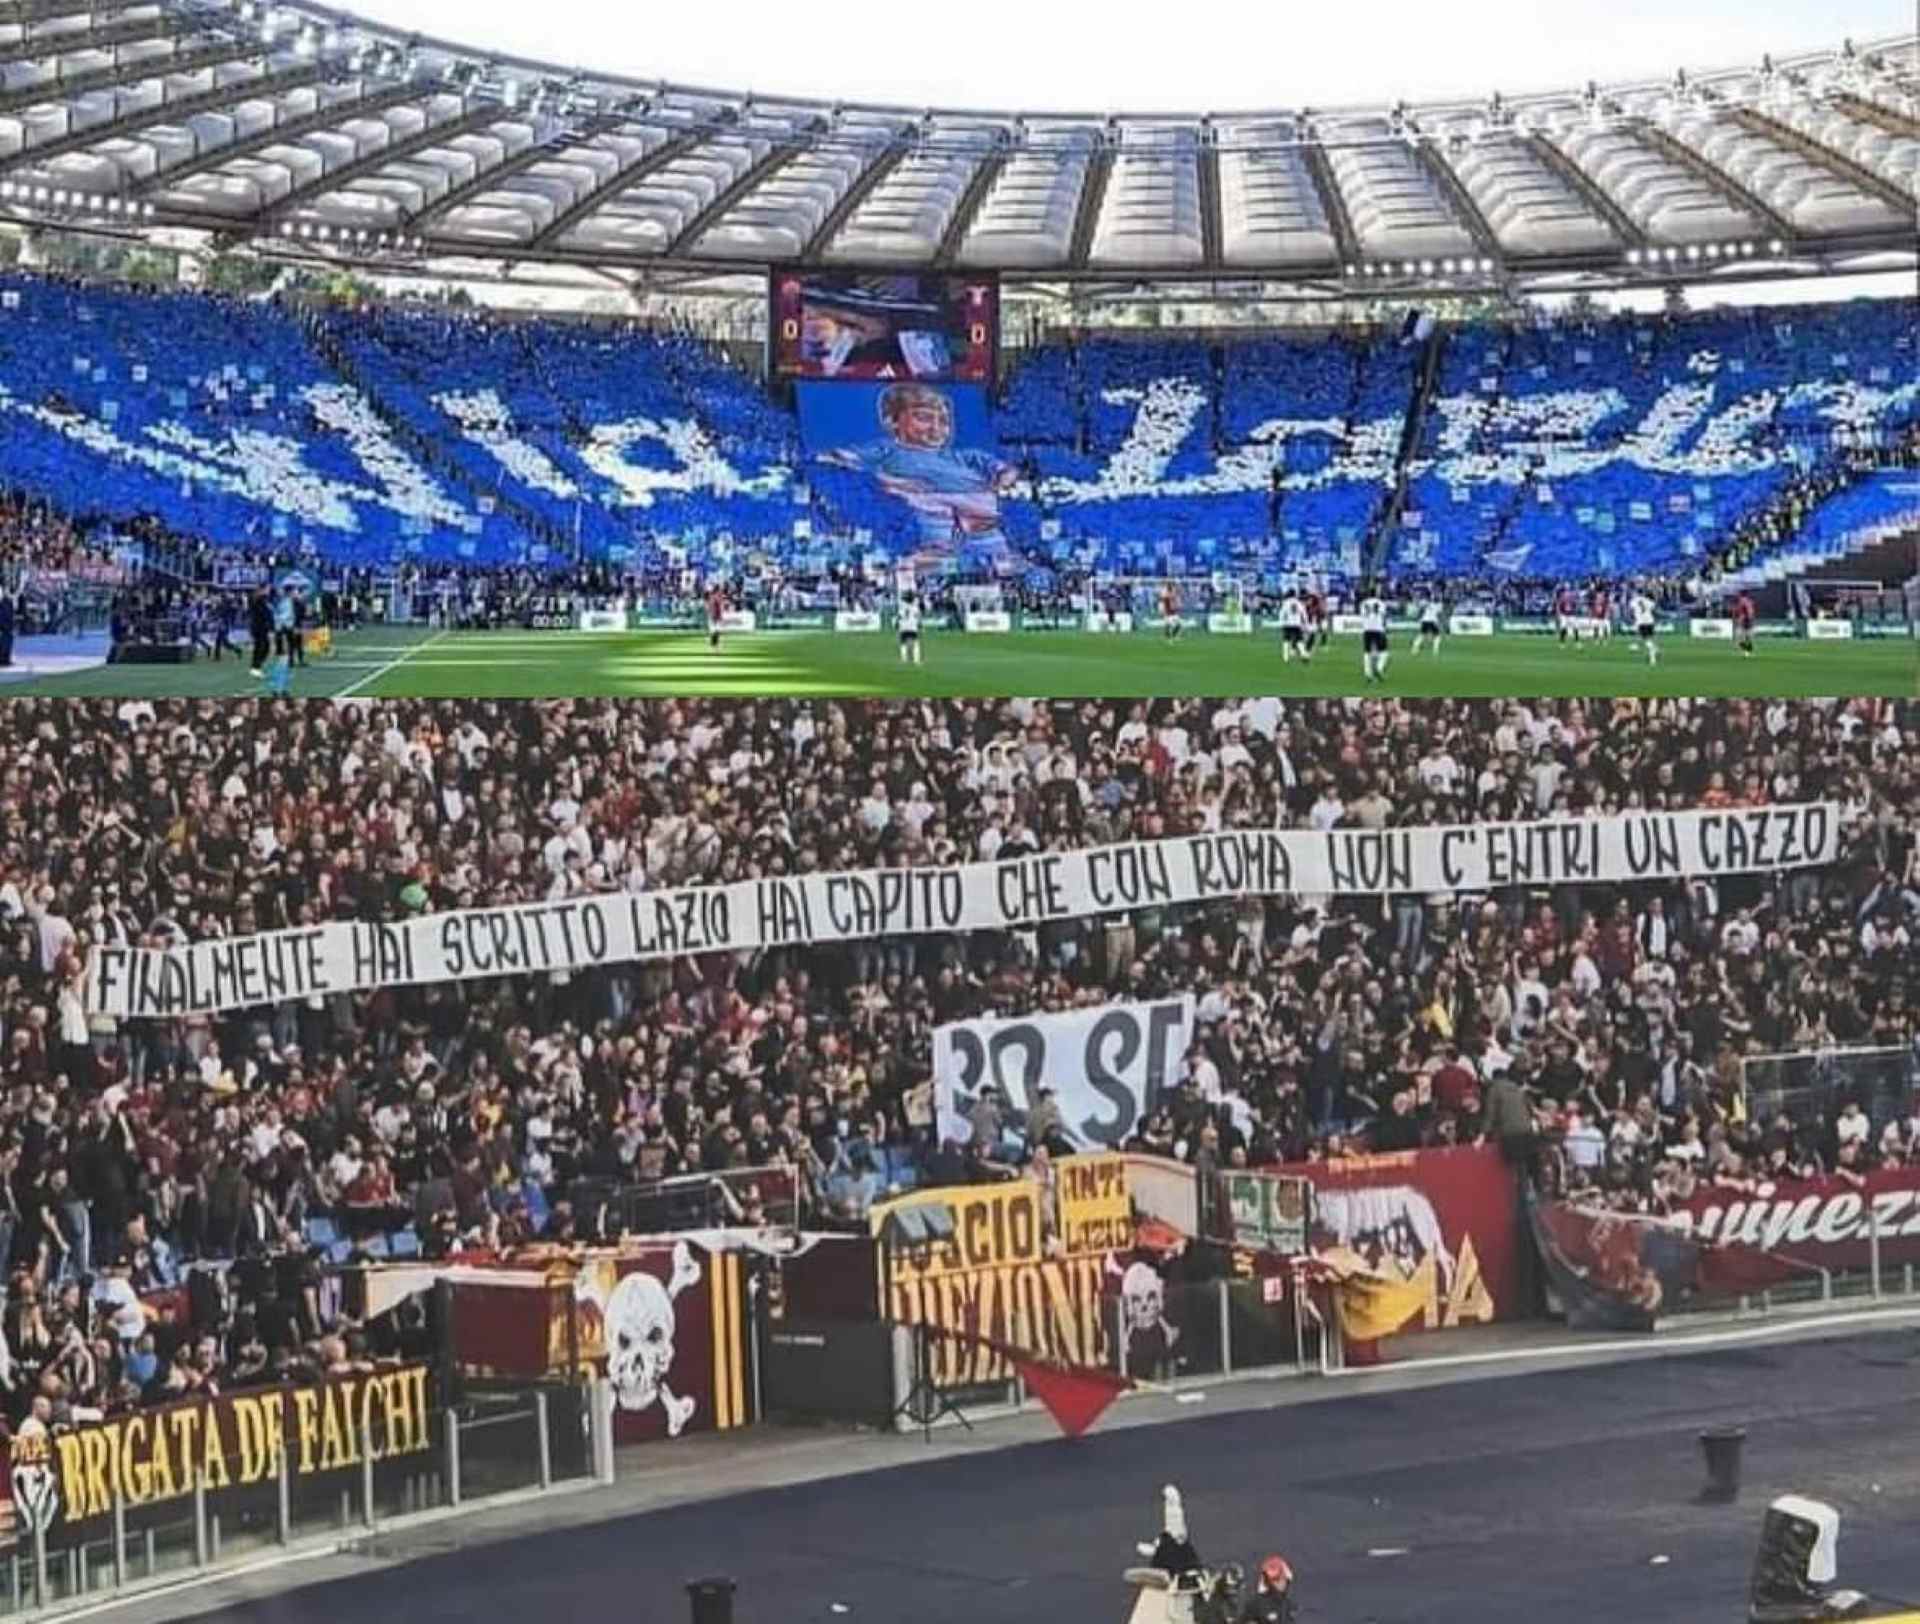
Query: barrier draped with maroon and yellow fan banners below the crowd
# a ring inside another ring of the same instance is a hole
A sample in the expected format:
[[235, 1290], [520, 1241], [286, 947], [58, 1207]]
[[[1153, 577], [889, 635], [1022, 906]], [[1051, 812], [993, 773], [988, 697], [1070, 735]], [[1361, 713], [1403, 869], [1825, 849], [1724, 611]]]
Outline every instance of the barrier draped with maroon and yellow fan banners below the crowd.
[[1912, 1294], [1920, 1169], [1703, 1186], [1651, 1221], [1523, 1204], [1492, 1148], [1208, 1177], [1102, 1152], [1060, 1158], [1048, 1182], [918, 1188], [860, 1232], [806, 1232], [793, 1215], [357, 1267], [338, 1286], [355, 1317], [424, 1305], [422, 1353], [17, 1434], [0, 1472], [0, 1614], [605, 1482], [616, 1445], [1020, 1403], [1037, 1365], [1150, 1386], [1325, 1373], [1402, 1328], [1534, 1313], [1534, 1244], [1571, 1325]]

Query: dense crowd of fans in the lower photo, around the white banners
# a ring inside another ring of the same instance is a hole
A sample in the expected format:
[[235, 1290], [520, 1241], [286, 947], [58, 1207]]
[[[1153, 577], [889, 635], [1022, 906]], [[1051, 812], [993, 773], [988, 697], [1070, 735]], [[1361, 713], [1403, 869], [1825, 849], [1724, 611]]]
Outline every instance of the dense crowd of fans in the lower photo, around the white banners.
[[[1137, 1144], [1196, 1165], [1551, 1134], [1657, 1204], [1920, 1152], [1751, 1123], [1741, 1056], [1920, 1039], [1920, 706], [1398, 701], [146, 703], [0, 712], [0, 1386], [15, 1424], [394, 1351], [323, 1267], [616, 1219], [586, 1188], [795, 1169], [814, 1221], [1068, 1150], [929, 1033], [1192, 991]], [[96, 943], [1194, 829], [1830, 799], [1828, 870], [1388, 902], [1269, 896], [115, 1023]], [[342, 1236], [338, 1242], [334, 1236]], [[194, 1265], [202, 1267], [194, 1267]], [[215, 1267], [204, 1267], [204, 1265]], [[182, 1284], [184, 1282], [184, 1284]], [[167, 1303], [175, 1307], [167, 1307]]]

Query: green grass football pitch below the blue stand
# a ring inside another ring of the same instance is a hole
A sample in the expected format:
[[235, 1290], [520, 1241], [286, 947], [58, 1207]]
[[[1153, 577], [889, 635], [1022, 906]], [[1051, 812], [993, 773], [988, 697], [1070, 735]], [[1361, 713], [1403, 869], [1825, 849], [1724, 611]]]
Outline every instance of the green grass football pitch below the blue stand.
[[[1663, 637], [1649, 666], [1630, 639], [1563, 649], [1553, 637], [1453, 637], [1438, 657], [1394, 637], [1380, 687], [1413, 697], [1703, 695], [1811, 697], [1920, 691], [1920, 651], [1907, 639], [1807, 643], [1763, 639], [1753, 658], [1728, 643]], [[0, 685], [48, 695], [246, 695], [261, 691], [232, 660], [104, 666]], [[1336, 637], [1311, 664], [1283, 664], [1271, 633], [1092, 635], [933, 632], [925, 662], [902, 666], [891, 632], [732, 633], [714, 651], [699, 632], [422, 632], [369, 628], [294, 674], [294, 695], [497, 697], [566, 695], [1342, 695], [1371, 691], [1359, 639]]]

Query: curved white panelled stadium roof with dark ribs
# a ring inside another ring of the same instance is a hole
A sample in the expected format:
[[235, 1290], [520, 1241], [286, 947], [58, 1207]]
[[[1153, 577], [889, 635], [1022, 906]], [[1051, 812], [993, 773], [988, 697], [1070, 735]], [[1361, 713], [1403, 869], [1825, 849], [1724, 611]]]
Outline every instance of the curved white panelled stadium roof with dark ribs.
[[1486, 100], [778, 100], [259, 0], [0, 0], [0, 217], [342, 259], [1386, 294], [1914, 263], [1920, 36]]

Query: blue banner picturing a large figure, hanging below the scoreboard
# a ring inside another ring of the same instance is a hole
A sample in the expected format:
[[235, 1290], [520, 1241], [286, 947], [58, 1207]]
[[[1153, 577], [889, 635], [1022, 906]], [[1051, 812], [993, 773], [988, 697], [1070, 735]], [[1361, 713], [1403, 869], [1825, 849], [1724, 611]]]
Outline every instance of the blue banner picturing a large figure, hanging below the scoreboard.
[[806, 451], [828, 468], [872, 482], [914, 514], [922, 564], [998, 555], [1000, 495], [1014, 465], [995, 449], [985, 390], [977, 386], [801, 384]]

